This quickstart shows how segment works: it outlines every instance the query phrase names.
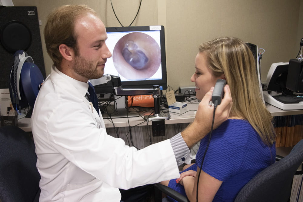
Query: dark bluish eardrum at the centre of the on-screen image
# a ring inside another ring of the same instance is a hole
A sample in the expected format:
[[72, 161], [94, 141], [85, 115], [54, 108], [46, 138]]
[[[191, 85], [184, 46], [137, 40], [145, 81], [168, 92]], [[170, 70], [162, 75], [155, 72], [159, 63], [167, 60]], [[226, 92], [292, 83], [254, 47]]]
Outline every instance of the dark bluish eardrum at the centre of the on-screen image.
[[122, 50], [122, 55], [125, 61], [137, 70], [144, 69], [148, 58], [143, 51], [140, 50], [134, 41], [128, 41], [125, 48]]

